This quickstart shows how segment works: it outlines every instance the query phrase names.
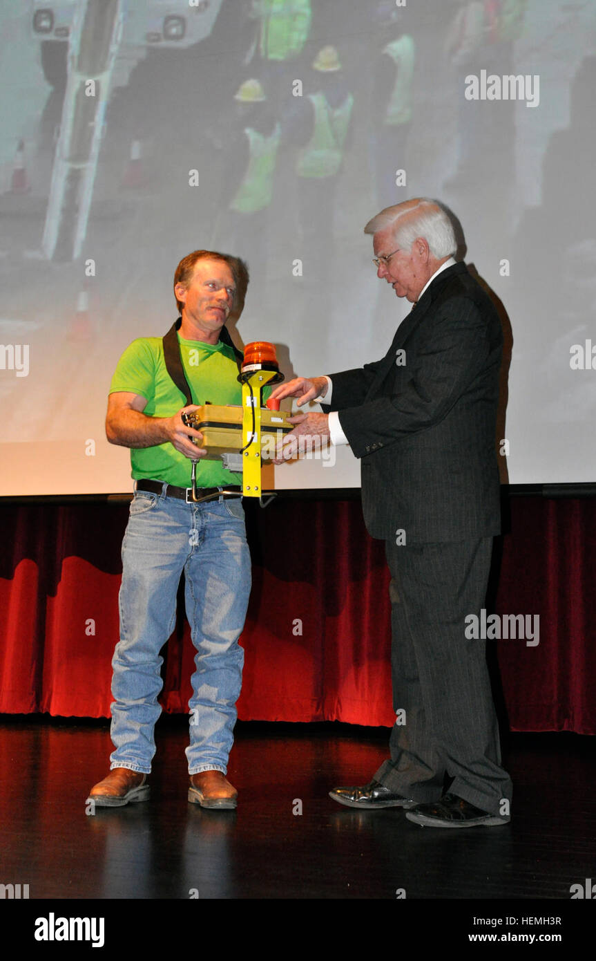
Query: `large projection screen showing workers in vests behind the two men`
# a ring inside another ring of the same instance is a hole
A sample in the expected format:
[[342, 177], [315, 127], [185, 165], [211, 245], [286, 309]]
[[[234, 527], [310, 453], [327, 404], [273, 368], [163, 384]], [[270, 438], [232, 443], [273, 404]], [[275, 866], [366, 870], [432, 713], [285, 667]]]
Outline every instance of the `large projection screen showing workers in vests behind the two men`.
[[[131, 490], [111, 374], [197, 248], [248, 261], [232, 336], [287, 377], [382, 357], [409, 305], [363, 228], [416, 196], [500, 302], [502, 479], [596, 480], [595, 25], [594, 0], [0, 0], [0, 495]], [[357, 487], [331, 453], [265, 483]]]

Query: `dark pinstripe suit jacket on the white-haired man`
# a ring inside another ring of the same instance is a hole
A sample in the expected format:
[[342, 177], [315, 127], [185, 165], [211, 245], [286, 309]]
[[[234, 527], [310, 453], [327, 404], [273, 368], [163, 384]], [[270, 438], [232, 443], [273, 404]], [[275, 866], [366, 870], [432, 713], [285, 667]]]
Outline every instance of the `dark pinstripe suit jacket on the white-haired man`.
[[[396, 363], [405, 351], [405, 365]], [[464, 263], [442, 271], [382, 360], [332, 374], [329, 410], [362, 459], [373, 537], [406, 544], [500, 531], [495, 451], [502, 333]]]

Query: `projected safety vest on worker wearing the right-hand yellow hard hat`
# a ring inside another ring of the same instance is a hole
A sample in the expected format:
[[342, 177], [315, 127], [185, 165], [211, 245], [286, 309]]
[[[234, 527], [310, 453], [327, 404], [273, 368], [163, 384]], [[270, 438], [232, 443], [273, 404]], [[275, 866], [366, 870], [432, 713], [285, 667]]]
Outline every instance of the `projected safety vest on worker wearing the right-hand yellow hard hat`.
[[315, 129], [310, 143], [298, 154], [296, 172], [298, 177], [333, 177], [342, 165], [354, 98], [348, 93], [335, 111], [324, 93], [311, 93], [308, 99], [315, 109]]

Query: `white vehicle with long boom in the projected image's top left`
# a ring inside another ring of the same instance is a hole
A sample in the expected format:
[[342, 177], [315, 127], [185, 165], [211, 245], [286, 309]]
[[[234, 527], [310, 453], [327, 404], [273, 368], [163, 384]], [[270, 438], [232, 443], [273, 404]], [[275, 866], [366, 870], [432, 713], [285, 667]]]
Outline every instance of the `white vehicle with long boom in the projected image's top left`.
[[[68, 45], [67, 81], [41, 247], [77, 259], [86, 234], [112, 90], [151, 48], [183, 49], [208, 37], [222, 0], [34, 0], [31, 29], [42, 44]], [[43, 53], [43, 50], [42, 50]], [[41, 58], [44, 66], [44, 58]], [[45, 70], [45, 66], [44, 66]]]

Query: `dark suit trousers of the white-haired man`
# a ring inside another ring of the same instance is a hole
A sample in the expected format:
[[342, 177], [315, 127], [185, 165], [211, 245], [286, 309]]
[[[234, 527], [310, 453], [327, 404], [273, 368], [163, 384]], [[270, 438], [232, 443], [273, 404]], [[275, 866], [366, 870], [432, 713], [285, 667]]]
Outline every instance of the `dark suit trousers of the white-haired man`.
[[[397, 546], [386, 542], [392, 581], [393, 710], [391, 760], [374, 775], [414, 801], [449, 790], [500, 813], [512, 782], [501, 768], [486, 642], [465, 637], [465, 617], [480, 614], [492, 538]], [[405, 711], [405, 717], [403, 712]], [[405, 724], [399, 721], [405, 720]]]

